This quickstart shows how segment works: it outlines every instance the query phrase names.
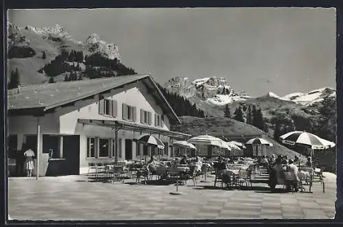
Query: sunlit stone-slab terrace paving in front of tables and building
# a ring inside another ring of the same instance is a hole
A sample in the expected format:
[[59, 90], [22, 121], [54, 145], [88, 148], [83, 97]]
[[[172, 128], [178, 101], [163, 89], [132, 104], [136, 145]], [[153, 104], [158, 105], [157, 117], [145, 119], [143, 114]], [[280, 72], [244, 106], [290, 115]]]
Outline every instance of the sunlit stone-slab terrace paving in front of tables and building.
[[[86, 176], [10, 178], [9, 214], [16, 220], [328, 219], [335, 216], [336, 178], [324, 173], [325, 193], [270, 193], [267, 184], [223, 190], [209, 182], [123, 184]], [[202, 180], [202, 179], [200, 179]], [[126, 180], [132, 182], [132, 180]], [[306, 187], [308, 189], [308, 187]]]

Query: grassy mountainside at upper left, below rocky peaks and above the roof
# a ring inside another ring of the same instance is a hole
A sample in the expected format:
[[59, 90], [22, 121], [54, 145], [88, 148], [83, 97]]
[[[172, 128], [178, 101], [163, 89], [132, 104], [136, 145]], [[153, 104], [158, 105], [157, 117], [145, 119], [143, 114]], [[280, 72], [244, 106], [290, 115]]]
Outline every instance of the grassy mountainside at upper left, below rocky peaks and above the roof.
[[[71, 40], [62, 39], [61, 43], [56, 43], [42, 35], [29, 32], [25, 29], [21, 32], [23, 36], [29, 40], [29, 47], [36, 51], [36, 55], [32, 58], [12, 58], [8, 60], [9, 72], [11, 69], [19, 69], [21, 84], [37, 84], [47, 81], [48, 78], [45, 77], [43, 73], [38, 73], [38, 69], [48, 62], [51, 62], [51, 60], [54, 60], [54, 58], [60, 53], [62, 46], [63, 49], [67, 50], [82, 50], [81, 45], [73, 43]], [[47, 56], [45, 60], [41, 58], [43, 51], [45, 51]], [[8, 73], [8, 75], [10, 75], [10, 73]]]

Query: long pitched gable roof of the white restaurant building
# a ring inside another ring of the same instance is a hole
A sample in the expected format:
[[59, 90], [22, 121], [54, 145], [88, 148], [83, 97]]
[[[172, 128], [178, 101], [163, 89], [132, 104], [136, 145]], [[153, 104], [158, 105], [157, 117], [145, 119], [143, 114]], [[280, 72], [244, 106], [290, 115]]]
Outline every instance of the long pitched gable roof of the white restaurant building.
[[[145, 86], [153, 88], [156, 93], [150, 93], [155, 99], [161, 100], [161, 107], [169, 118], [178, 123], [176, 116], [150, 74], [124, 75], [118, 77], [107, 77], [93, 80], [80, 80], [73, 82], [56, 82], [51, 84], [35, 84], [23, 86], [18, 89], [8, 90], [8, 109], [25, 111], [27, 109], [41, 109], [47, 111], [73, 101], [78, 101], [92, 95], [96, 95], [110, 89], [118, 88], [132, 82], [144, 80]], [[150, 85], [148, 85], [150, 84]]]

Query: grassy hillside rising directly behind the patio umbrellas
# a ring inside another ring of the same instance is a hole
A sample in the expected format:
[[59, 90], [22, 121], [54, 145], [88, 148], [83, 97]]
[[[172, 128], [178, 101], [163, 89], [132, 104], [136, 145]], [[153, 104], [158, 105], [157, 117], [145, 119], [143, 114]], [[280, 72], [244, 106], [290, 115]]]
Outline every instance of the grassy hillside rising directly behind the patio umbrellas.
[[198, 117], [180, 117], [180, 120], [182, 123], [180, 125], [171, 126], [171, 130], [189, 133], [192, 136], [198, 136], [201, 134], [222, 136], [224, 134], [225, 137], [230, 137], [230, 135], [249, 136], [250, 134], [261, 134], [262, 138], [268, 139], [268, 141], [272, 142], [274, 145], [273, 147], [268, 148], [268, 156], [271, 156], [272, 154], [287, 155], [290, 158], [294, 158], [295, 155], [299, 156], [297, 152], [289, 150], [287, 147], [277, 143], [258, 128], [233, 119], [225, 117], [208, 117], [203, 119]]

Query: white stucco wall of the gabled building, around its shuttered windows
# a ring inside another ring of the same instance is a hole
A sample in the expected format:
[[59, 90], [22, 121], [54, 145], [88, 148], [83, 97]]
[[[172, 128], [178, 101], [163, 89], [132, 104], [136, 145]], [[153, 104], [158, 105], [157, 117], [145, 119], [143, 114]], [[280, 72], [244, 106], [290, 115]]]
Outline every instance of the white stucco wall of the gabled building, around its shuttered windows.
[[[152, 95], [147, 93], [147, 89], [142, 82], [128, 84], [124, 88], [118, 88], [111, 93], [104, 95], [106, 98], [115, 99], [117, 101], [117, 117], [99, 115], [98, 100], [99, 95], [95, 95], [92, 99], [75, 102], [74, 106], [58, 107], [54, 113], [46, 114], [40, 117], [41, 134], [78, 134], [80, 135], [80, 174], [83, 174], [88, 169], [88, 162], [93, 161], [92, 158], [86, 158], [86, 138], [94, 136], [99, 138], [114, 138], [114, 131], [108, 127], [102, 126], [87, 126], [78, 123], [78, 119], [99, 119], [99, 120], [119, 120], [122, 119], [122, 104], [136, 106], [137, 118], [134, 122], [137, 125], [141, 123], [141, 108], [152, 112], [152, 124], [150, 127], [169, 130], [170, 123], [168, 117], [163, 118], [162, 127], [155, 126], [154, 114], [163, 114], [163, 110]], [[128, 121], [132, 123], [132, 121]], [[22, 143], [25, 141], [27, 134], [36, 134], [37, 117], [33, 116], [14, 116], [8, 118], [9, 134], [18, 135], [18, 149], [21, 149]], [[125, 158], [125, 139], [138, 139], [141, 134], [132, 131], [123, 132], [119, 130], [119, 138], [122, 139], [121, 144], [121, 159]], [[158, 135], [156, 135], [158, 136]], [[163, 142], [169, 143], [169, 137], [161, 136]], [[42, 139], [40, 139], [40, 154], [42, 153]], [[169, 151], [170, 154], [170, 151]], [[132, 143], [132, 158], [136, 156], [136, 143]], [[119, 158], [120, 159], [120, 158]]]

